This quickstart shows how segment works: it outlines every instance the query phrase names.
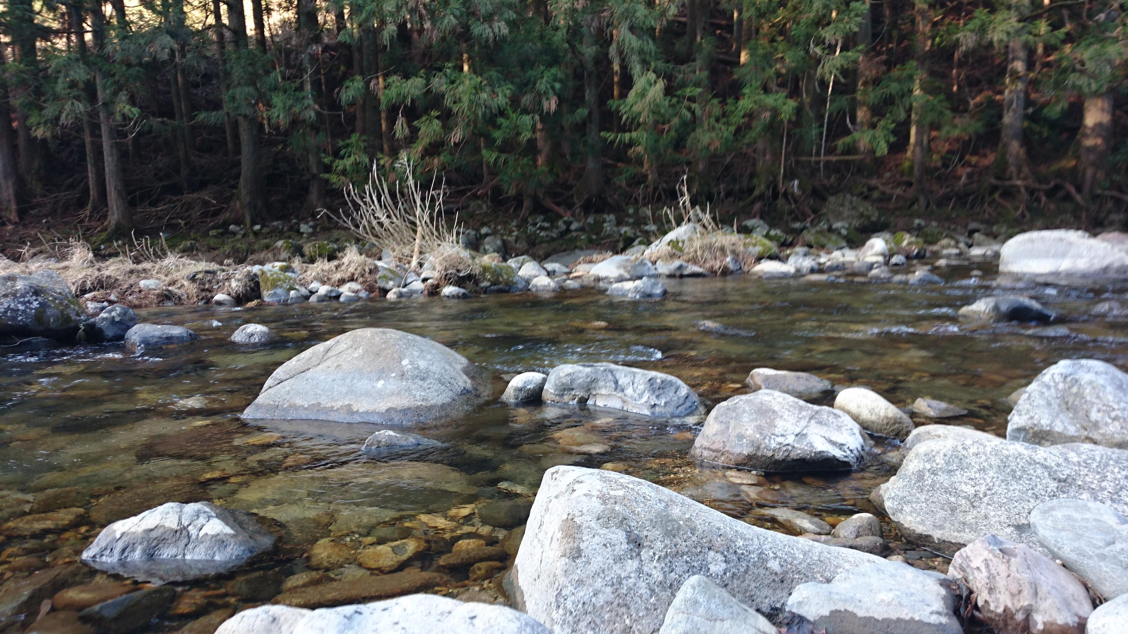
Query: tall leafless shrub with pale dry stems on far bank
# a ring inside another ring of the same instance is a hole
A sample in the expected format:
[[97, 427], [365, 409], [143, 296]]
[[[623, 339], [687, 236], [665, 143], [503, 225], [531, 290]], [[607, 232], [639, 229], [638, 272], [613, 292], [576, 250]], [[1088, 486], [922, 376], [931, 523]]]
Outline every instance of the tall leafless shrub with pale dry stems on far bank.
[[396, 162], [403, 177], [381, 177], [379, 166], [363, 190], [345, 185], [347, 210], [321, 213], [336, 220], [356, 237], [391, 252], [396, 261], [412, 268], [424, 254], [434, 254], [443, 245], [458, 244], [458, 220], [448, 226], [443, 215], [446, 185], [435, 178], [424, 188], [415, 179], [415, 166], [406, 157]]

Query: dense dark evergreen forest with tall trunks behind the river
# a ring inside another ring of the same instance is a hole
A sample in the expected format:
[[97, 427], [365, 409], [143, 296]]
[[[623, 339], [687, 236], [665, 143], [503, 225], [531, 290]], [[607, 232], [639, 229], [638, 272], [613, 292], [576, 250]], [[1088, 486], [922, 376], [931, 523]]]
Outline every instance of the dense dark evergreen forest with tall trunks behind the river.
[[249, 228], [406, 155], [464, 218], [647, 205], [687, 175], [776, 220], [851, 192], [1103, 222], [1128, 203], [1126, 24], [1109, 0], [8, 0], [0, 211]]

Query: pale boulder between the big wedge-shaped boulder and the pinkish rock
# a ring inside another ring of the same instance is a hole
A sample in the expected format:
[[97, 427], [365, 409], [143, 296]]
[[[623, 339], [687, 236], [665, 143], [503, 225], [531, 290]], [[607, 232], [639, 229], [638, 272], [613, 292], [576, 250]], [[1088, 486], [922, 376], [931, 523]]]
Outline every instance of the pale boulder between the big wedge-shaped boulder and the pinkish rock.
[[787, 599], [787, 611], [835, 634], [962, 634], [952, 585], [938, 573], [881, 562], [829, 583], [803, 583]]

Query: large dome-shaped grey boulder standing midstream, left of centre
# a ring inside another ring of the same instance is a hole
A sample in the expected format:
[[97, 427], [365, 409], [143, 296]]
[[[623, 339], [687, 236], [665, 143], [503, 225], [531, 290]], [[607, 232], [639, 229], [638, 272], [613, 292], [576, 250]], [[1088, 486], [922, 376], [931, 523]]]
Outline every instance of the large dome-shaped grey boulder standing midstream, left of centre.
[[453, 415], [484, 394], [475, 366], [449, 347], [360, 328], [274, 370], [243, 417], [407, 424]]

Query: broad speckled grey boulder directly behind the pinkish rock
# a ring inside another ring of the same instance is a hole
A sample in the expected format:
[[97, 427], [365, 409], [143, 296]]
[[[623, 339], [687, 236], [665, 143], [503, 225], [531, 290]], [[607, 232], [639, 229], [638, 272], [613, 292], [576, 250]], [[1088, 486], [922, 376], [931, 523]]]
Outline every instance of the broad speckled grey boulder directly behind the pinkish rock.
[[922, 442], [878, 490], [907, 539], [954, 553], [985, 535], [1041, 549], [1030, 512], [1077, 497], [1128, 511], [1128, 451], [1096, 444], [1038, 447], [979, 437]]

